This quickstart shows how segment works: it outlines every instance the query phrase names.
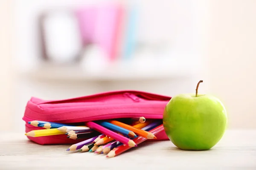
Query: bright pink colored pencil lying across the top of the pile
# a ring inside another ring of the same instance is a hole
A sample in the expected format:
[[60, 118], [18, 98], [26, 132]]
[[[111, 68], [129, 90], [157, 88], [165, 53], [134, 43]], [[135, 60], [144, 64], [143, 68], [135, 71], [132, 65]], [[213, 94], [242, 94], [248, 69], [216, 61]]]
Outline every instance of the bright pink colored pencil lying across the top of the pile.
[[90, 127], [91, 129], [97, 130], [98, 132], [100, 132], [102, 134], [105, 134], [108, 137], [115, 139], [116, 141], [119, 141], [123, 144], [127, 144], [130, 147], [137, 146], [137, 144], [135, 144], [135, 142], [133, 140], [128, 139], [125, 136], [119, 135], [118, 133], [115, 133], [105, 127], [102, 127], [101, 125], [94, 123], [94, 122], [86, 122], [85, 125], [87, 127]]

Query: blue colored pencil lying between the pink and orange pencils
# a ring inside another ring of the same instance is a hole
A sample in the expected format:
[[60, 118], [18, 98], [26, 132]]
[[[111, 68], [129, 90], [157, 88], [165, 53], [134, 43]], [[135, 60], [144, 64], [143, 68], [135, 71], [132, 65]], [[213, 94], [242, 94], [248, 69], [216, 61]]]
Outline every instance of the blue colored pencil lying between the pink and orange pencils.
[[99, 125], [103, 126], [103, 127], [106, 127], [110, 130], [113, 130], [115, 132], [119, 132], [121, 133], [122, 135], [125, 135], [125, 136], [128, 136], [130, 138], [136, 138], [137, 135], [131, 131], [131, 130], [127, 130], [123, 127], [119, 127], [119, 126], [116, 126], [116, 125], [113, 125], [112, 123], [109, 123], [109, 122], [99, 122]]

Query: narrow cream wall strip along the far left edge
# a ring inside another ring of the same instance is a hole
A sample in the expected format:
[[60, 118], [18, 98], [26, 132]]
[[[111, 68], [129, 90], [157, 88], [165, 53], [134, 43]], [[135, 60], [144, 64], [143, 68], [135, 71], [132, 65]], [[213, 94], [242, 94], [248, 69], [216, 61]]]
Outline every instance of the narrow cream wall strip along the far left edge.
[[[12, 125], [13, 70], [11, 61], [11, 12], [12, 3], [0, 1], [0, 130], [8, 130]], [[3, 121], [1, 121], [3, 120]]]

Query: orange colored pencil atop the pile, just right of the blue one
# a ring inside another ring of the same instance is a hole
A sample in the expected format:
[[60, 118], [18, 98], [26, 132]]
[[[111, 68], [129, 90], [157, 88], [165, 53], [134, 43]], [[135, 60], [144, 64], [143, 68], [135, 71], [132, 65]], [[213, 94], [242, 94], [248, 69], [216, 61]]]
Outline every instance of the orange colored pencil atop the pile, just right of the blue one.
[[127, 124], [122, 123], [122, 122], [118, 122], [118, 121], [116, 121], [116, 120], [110, 120], [109, 122], [112, 123], [112, 124], [114, 124], [114, 125], [123, 127], [123, 128], [125, 128], [125, 129], [128, 129], [128, 130], [131, 130], [131, 131], [133, 131], [134, 133], [136, 133], [138, 136], [142, 136], [142, 137], [147, 138], [147, 139], [157, 139], [157, 137], [154, 136], [154, 134], [152, 134], [152, 133], [150, 133], [150, 132], [147, 132], [147, 131], [145, 131], [145, 130], [141, 130], [141, 129], [132, 127], [132, 126], [130, 126], [130, 125], [127, 125]]

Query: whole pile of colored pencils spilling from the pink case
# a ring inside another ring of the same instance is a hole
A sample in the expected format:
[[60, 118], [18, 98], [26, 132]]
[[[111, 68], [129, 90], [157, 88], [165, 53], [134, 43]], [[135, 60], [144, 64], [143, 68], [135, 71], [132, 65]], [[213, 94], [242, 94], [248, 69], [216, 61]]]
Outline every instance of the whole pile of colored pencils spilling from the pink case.
[[84, 122], [84, 125], [65, 125], [54, 122], [31, 121], [30, 125], [44, 127], [32, 130], [26, 136], [40, 137], [66, 134], [69, 139], [84, 139], [71, 145], [67, 151], [94, 152], [111, 158], [137, 147], [164, 130], [161, 119], [145, 120], [144, 117]]

